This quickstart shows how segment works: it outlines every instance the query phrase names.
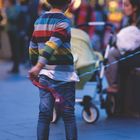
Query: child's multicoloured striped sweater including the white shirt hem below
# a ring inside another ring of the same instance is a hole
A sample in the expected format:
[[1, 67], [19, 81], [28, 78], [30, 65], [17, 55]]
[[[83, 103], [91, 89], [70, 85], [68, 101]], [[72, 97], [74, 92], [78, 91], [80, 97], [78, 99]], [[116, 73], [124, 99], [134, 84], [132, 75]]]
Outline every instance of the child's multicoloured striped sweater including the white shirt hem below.
[[40, 75], [59, 81], [79, 81], [70, 50], [70, 24], [63, 13], [51, 12], [35, 22], [29, 54], [33, 65], [45, 64]]

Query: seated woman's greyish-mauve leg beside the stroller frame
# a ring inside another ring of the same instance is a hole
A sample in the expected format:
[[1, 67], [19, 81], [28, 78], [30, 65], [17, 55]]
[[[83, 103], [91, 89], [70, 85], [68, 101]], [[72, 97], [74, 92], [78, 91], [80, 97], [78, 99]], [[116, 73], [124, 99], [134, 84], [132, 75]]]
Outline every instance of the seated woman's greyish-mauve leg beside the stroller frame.
[[109, 86], [118, 84], [118, 63], [116, 62], [121, 57], [121, 54], [118, 49], [111, 48], [108, 55], [108, 64], [111, 64], [106, 69], [106, 77], [108, 80]]

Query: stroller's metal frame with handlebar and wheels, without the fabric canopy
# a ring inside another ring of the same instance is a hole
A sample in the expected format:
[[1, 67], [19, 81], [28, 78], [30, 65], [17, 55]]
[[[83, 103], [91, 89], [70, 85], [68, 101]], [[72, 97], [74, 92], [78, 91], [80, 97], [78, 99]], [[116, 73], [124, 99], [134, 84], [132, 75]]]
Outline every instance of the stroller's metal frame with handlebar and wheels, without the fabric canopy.
[[[100, 62], [99, 68], [96, 71], [96, 81], [97, 81], [97, 94], [99, 94], [99, 102], [102, 109], [106, 110], [106, 113], [108, 116], [111, 116], [115, 113], [115, 107], [116, 107], [116, 95], [114, 94], [107, 94], [106, 98], [104, 97], [104, 94], [106, 93], [103, 89], [103, 77], [105, 73], [105, 68], [107, 64], [108, 54], [109, 50], [112, 47], [113, 37], [115, 34], [115, 26], [111, 23], [105, 23], [105, 22], [89, 22], [86, 24], [78, 25], [80, 26], [105, 26], [110, 27], [110, 38], [108, 41], [108, 45], [105, 50], [104, 59]], [[82, 117], [86, 123], [93, 124], [95, 123], [99, 118], [99, 109], [97, 108], [94, 99], [92, 97], [86, 95], [83, 98], [76, 98], [76, 103], [80, 104], [83, 107], [82, 110]], [[59, 118], [59, 112], [57, 110], [57, 107], [54, 108], [53, 112], [53, 119], [52, 123], [56, 123]]]

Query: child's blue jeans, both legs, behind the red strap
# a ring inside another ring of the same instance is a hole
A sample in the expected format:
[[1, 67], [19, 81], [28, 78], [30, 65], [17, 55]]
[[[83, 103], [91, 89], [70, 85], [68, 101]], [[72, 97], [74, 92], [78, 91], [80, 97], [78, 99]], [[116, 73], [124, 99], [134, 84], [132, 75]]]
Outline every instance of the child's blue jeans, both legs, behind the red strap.
[[[56, 86], [60, 81], [55, 81], [45, 75], [41, 75], [40, 84]], [[63, 107], [60, 108], [61, 116], [65, 124], [66, 140], [77, 140], [77, 128], [75, 121], [75, 82], [67, 82], [54, 88], [63, 97]], [[52, 93], [40, 89], [39, 119], [37, 125], [37, 140], [49, 140], [50, 122], [53, 114], [54, 97]]]

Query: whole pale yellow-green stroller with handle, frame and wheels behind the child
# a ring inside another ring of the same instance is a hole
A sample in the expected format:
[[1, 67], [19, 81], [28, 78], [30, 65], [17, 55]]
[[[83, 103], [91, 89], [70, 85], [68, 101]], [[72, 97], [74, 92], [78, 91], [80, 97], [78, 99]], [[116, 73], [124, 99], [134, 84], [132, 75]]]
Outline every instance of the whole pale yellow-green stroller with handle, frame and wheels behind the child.
[[[89, 22], [80, 26], [109, 26], [111, 27], [111, 35], [106, 47], [104, 58], [101, 53], [93, 51], [89, 35], [81, 29], [71, 29], [71, 46], [72, 54], [74, 56], [74, 64], [80, 82], [77, 83], [76, 89], [83, 89], [85, 84], [92, 78], [93, 74], [96, 77], [97, 93], [99, 95], [99, 102], [101, 108], [104, 108], [107, 115], [113, 115], [116, 106], [115, 95], [107, 94], [104, 97], [104, 90], [102, 80], [104, 77], [105, 65], [107, 63], [108, 51], [112, 46], [112, 39], [114, 34], [114, 26], [110, 23], [104, 22]], [[97, 108], [94, 99], [85, 95], [82, 99], [76, 98], [76, 103], [83, 106], [82, 118], [87, 123], [95, 123], [99, 118], [99, 109]], [[56, 123], [59, 118], [59, 111], [57, 106], [54, 108], [52, 123]]]

